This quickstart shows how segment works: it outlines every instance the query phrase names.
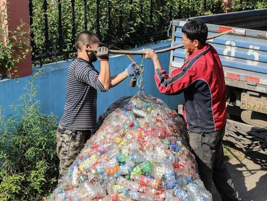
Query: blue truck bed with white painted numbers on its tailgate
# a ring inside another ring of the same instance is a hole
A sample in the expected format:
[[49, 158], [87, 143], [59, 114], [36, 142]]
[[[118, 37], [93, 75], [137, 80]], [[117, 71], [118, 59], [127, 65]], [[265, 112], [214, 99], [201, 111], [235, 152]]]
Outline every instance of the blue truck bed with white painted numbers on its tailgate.
[[[174, 20], [172, 46], [182, 44], [182, 27], [194, 18], [200, 18], [207, 23], [209, 36], [226, 30], [234, 32], [207, 41], [219, 54], [226, 84], [240, 85], [240, 88], [244, 89], [254, 84], [254, 91], [267, 93], [267, 31], [264, 31], [267, 28], [267, 9]], [[246, 29], [246, 26], [258, 30]], [[184, 48], [172, 51], [170, 70], [181, 67], [184, 58]]]

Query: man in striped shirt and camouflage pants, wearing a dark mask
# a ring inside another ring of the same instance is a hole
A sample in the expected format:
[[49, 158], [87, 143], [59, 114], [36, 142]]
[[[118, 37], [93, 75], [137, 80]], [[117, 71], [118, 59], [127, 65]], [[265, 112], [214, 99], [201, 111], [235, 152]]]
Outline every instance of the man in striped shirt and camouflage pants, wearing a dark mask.
[[[135, 63], [131, 63], [125, 71], [110, 77], [109, 50], [98, 47], [99, 43], [98, 36], [91, 31], [82, 31], [75, 41], [78, 56], [67, 70], [66, 104], [56, 137], [59, 183], [96, 128], [97, 90], [107, 92], [127, 77], [139, 73]], [[86, 52], [88, 47], [97, 49], [97, 53]], [[97, 57], [100, 58], [100, 72], [92, 64]]]

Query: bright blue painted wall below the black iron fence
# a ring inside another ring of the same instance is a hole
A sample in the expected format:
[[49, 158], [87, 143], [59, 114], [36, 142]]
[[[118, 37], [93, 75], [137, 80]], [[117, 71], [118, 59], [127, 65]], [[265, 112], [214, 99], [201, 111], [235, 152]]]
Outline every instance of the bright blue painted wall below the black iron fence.
[[[161, 41], [157, 44], [147, 44], [133, 50], [139, 50], [142, 48], [163, 49], [170, 46], [171, 41]], [[161, 65], [168, 71], [170, 52], [159, 54]], [[133, 56], [133, 59], [140, 64], [141, 56]], [[36, 84], [39, 86], [37, 99], [40, 100], [42, 111], [46, 114], [52, 112], [59, 118], [63, 115], [63, 108], [65, 104], [66, 95], [66, 77], [67, 67], [69, 62], [58, 62], [44, 65], [44, 71], [36, 80]], [[125, 55], [114, 55], [110, 57], [111, 75], [116, 75], [122, 72], [130, 63], [129, 59]], [[100, 62], [95, 62], [95, 67], [100, 69]], [[152, 94], [158, 98], [161, 98], [171, 108], [177, 108], [178, 104], [182, 103], [182, 96], [167, 96], [159, 93], [156, 84], [154, 82], [153, 73], [154, 68], [150, 60], [144, 61], [145, 73], [144, 73], [144, 91]], [[33, 72], [36, 72], [40, 67], [34, 67]], [[19, 96], [25, 93], [23, 88], [26, 86], [29, 77], [18, 78], [10, 80], [0, 81], [0, 107], [4, 109], [4, 116], [11, 114], [12, 110], [9, 108], [11, 104], [19, 104]], [[109, 92], [98, 93], [98, 116], [102, 114], [110, 104], [115, 102], [121, 96], [133, 95], [138, 91], [138, 88], [129, 87], [130, 78], [127, 78], [124, 82], [117, 85], [115, 88], [109, 90]]]

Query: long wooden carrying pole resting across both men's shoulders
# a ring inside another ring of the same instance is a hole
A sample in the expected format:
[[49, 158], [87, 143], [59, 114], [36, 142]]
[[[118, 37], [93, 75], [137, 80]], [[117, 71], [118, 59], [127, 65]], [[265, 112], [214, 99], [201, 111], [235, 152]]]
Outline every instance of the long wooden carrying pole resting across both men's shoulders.
[[[207, 40], [211, 40], [211, 39], [217, 38], [217, 37], [219, 37], [221, 35], [225, 35], [225, 34], [228, 34], [228, 33], [231, 33], [231, 32], [232, 32], [232, 30], [228, 30], [228, 31], [223, 31], [223, 32], [220, 32], [220, 33], [216, 33], [216, 34], [208, 37]], [[174, 50], [174, 49], [183, 47], [183, 46], [184, 45], [172, 46], [172, 47], [169, 47], [169, 48], [156, 50], [155, 53], [164, 53], [164, 52], [171, 51], [171, 50]], [[97, 49], [92, 49], [92, 48], [86, 48], [85, 50], [87, 52], [97, 52]], [[110, 54], [126, 54], [126, 55], [143, 55], [144, 54], [142, 52], [142, 50], [139, 50], [139, 51], [130, 51], [130, 50], [115, 50], [115, 49], [110, 49], [109, 50], [109, 53]]]

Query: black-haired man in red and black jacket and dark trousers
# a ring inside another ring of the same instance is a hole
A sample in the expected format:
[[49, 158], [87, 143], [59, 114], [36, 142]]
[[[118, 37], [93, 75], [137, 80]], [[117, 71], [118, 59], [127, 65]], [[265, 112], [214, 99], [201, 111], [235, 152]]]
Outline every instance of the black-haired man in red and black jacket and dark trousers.
[[226, 87], [222, 64], [214, 47], [206, 43], [208, 28], [203, 21], [190, 20], [182, 32], [186, 58], [182, 68], [173, 70], [170, 76], [153, 50], [143, 49], [143, 52], [154, 63], [154, 78], [161, 93], [184, 92], [183, 114], [189, 143], [205, 187], [210, 191], [213, 180], [223, 201], [238, 201], [238, 193], [223, 162]]

